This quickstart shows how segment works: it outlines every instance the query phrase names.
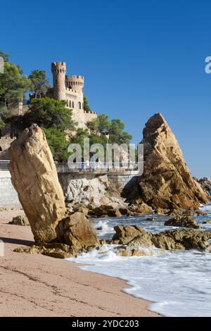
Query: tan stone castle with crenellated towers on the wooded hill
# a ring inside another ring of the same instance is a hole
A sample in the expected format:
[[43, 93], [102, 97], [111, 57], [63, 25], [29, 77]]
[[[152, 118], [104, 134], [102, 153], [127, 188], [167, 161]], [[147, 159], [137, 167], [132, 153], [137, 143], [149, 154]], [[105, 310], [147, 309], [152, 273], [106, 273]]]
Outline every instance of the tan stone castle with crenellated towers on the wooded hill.
[[56, 100], [66, 100], [67, 107], [72, 109], [72, 119], [78, 123], [77, 127], [86, 128], [86, 123], [97, 117], [94, 111], [84, 110], [84, 77], [66, 75], [65, 62], [51, 63], [53, 74], [53, 88], [47, 93]]

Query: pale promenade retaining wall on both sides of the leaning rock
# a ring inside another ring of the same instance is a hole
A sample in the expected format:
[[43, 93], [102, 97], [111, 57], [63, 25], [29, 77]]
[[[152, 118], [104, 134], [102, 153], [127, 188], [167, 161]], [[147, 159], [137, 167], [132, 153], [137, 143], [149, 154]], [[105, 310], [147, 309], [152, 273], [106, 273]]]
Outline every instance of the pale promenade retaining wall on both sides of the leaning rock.
[[[65, 170], [65, 168], [64, 168]], [[85, 203], [89, 201], [89, 196], [93, 196], [93, 202], [103, 204], [106, 189], [109, 182], [117, 184], [122, 190], [127, 185], [133, 185], [136, 181], [136, 171], [134, 170], [120, 170], [105, 172], [81, 171], [67, 173], [63, 172], [63, 168], [58, 170], [58, 179], [63, 188], [65, 199], [81, 201]], [[0, 207], [13, 206], [19, 204], [18, 194], [16, 193], [11, 183], [11, 175], [9, 171], [0, 171]]]

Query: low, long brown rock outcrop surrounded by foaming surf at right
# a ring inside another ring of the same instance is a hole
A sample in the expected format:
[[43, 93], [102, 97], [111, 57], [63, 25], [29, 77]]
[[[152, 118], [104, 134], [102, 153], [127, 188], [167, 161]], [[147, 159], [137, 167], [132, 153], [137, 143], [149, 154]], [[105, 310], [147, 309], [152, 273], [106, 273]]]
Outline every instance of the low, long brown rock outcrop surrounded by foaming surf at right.
[[115, 244], [131, 247], [155, 246], [170, 251], [199, 249], [211, 252], [211, 231], [173, 230], [152, 234], [136, 225], [117, 225], [115, 232]]

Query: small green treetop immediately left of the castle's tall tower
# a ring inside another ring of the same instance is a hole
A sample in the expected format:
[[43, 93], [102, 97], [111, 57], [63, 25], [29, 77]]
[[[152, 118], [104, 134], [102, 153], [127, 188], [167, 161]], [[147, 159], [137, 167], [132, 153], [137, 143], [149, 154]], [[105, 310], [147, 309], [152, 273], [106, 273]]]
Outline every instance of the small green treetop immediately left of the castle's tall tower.
[[35, 97], [40, 94], [46, 94], [50, 83], [46, 78], [46, 72], [44, 70], [33, 70], [29, 75], [29, 79], [32, 82], [32, 91], [35, 93]]

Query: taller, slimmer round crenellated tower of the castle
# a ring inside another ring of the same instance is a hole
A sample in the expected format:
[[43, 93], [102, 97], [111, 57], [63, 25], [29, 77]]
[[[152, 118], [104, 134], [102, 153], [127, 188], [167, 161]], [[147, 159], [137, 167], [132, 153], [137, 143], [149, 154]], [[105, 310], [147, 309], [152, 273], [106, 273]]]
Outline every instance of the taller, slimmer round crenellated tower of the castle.
[[53, 74], [53, 98], [56, 100], [66, 100], [65, 62], [51, 63], [51, 72]]

